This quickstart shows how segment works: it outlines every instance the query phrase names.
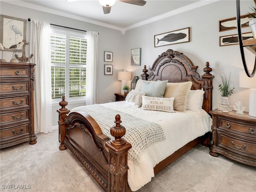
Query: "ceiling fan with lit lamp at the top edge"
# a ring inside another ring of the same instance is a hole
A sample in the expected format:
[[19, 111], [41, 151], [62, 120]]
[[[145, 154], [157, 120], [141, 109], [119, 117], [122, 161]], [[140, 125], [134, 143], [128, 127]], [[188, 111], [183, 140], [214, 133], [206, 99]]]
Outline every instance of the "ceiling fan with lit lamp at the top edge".
[[[74, 2], [79, 0], [66, 0], [68, 2]], [[144, 0], [118, 0], [124, 3], [129, 3], [133, 5], [139, 5], [144, 6], [146, 4], [146, 1]], [[103, 12], [104, 14], [110, 13], [111, 6], [116, 2], [116, 0], [99, 0], [100, 4], [102, 4]]]

